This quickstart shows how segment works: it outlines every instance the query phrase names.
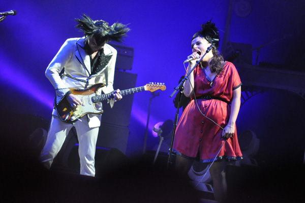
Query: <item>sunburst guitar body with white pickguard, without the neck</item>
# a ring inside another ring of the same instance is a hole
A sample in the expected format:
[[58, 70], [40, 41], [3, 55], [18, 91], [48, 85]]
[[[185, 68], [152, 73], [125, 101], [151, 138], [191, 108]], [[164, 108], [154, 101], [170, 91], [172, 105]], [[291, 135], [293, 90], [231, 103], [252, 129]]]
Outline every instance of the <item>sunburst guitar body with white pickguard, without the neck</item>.
[[67, 123], [75, 123], [78, 119], [82, 118], [86, 114], [101, 114], [103, 113], [102, 106], [99, 109], [96, 107], [96, 103], [92, 102], [92, 97], [97, 95], [97, 91], [105, 86], [103, 83], [98, 83], [90, 88], [83, 90], [70, 89], [72, 94], [77, 96], [81, 101], [82, 105], [72, 107], [66, 97], [62, 99], [57, 105], [55, 105], [56, 111], [59, 118]]

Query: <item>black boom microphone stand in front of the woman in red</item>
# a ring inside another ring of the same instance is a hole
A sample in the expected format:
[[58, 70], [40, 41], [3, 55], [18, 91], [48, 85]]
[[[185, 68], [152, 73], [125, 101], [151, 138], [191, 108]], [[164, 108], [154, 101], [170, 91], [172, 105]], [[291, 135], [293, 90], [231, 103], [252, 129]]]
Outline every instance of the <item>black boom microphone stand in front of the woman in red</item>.
[[176, 88], [174, 88], [174, 92], [169, 96], [170, 98], [172, 98], [174, 96], [174, 94], [180, 90], [180, 96], [179, 96], [179, 101], [178, 101], [178, 106], [177, 106], [177, 112], [176, 112], [176, 116], [175, 116], [175, 121], [174, 121], [174, 128], [173, 128], [173, 132], [172, 132], [172, 139], [171, 139], [171, 143], [170, 143], [170, 149], [169, 149], [169, 155], [168, 155], [168, 160], [167, 160], [167, 167], [169, 167], [172, 162], [171, 162], [171, 156], [172, 156], [172, 148], [173, 148], [173, 143], [174, 143], [174, 136], [175, 136], [175, 132], [176, 132], [176, 127], [178, 124], [178, 115], [179, 115], [179, 107], [180, 107], [180, 101], [181, 101], [181, 97], [183, 94], [183, 90], [184, 90], [184, 86], [182, 85], [189, 77], [189, 75], [194, 71], [194, 69], [198, 66], [199, 62], [203, 59], [203, 57], [213, 48], [213, 46], [215, 45], [215, 43], [212, 43], [205, 51], [205, 53], [203, 54], [203, 56], [201, 57], [201, 59], [195, 64], [195, 66], [191, 69], [191, 71], [188, 71], [188, 74], [185, 78], [183, 78], [181, 80], [181, 82], [178, 84], [178, 86], [176, 86]]

